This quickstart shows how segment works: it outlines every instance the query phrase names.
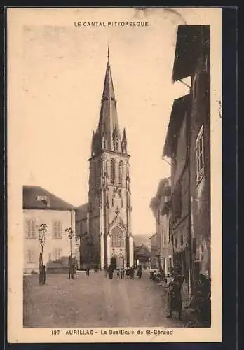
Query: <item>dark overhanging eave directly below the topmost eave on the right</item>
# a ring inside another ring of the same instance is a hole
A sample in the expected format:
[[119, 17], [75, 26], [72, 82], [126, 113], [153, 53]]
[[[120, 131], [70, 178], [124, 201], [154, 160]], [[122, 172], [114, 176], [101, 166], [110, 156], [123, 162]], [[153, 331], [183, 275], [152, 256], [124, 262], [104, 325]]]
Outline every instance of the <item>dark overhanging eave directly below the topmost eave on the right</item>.
[[190, 95], [187, 94], [179, 99], [175, 99], [172, 105], [170, 122], [163, 148], [163, 157], [171, 157], [175, 145], [175, 140], [179, 137], [179, 130], [189, 108]]

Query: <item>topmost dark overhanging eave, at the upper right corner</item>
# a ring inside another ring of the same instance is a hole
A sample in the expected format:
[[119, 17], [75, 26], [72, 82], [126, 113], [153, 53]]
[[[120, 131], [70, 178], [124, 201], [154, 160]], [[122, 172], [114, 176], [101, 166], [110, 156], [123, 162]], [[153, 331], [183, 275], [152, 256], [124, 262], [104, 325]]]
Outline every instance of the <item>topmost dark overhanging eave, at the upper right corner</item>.
[[194, 73], [202, 48], [209, 42], [210, 26], [178, 26], [172, 80], [181, 80]]

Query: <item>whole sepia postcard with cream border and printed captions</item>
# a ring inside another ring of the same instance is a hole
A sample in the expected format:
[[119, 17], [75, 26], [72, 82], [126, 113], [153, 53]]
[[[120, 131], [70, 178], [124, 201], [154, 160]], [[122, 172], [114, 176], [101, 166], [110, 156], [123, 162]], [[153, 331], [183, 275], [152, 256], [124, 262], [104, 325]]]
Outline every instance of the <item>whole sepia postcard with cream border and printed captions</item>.
[[222, 341], [221, 8], [8, 8], [8, 342]]

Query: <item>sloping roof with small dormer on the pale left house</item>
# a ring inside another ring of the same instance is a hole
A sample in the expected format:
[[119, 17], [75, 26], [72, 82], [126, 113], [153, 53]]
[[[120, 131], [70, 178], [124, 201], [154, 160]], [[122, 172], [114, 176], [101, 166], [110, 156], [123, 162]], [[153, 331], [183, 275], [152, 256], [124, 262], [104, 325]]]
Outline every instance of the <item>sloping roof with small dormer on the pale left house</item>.
[[23, 186], [23, 209], [74, 210], [75, 207], [40, 186]]

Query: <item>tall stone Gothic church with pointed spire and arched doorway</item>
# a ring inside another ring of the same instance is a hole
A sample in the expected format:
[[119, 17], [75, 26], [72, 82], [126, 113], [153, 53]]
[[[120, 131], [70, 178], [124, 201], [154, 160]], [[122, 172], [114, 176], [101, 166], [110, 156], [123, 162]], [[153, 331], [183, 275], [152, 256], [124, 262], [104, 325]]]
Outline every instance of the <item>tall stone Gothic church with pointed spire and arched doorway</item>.
[[130, 155], [126, 130], [118, 125], [109, 51], [100, 118], [89, 159], [88, 203], [76, 210], [81, 265], [101, 269], [134, 264], [131, 234]]

